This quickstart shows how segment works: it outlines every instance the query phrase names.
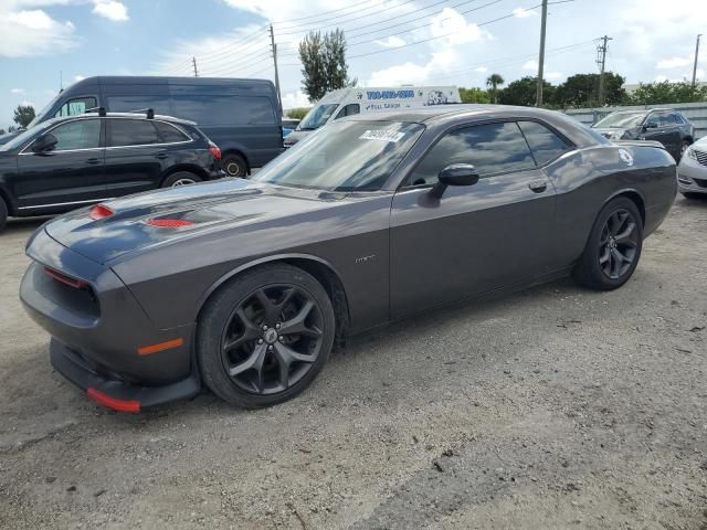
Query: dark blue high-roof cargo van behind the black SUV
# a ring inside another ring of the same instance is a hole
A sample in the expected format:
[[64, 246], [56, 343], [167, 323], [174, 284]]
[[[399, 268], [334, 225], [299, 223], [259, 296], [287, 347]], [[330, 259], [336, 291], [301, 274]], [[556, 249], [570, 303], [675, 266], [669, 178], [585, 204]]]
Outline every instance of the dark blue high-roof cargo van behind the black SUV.
[[221, 148], [222, 167], [230, 177], [245, 177], [283, 148], [282, 112], [275, 87], [266, 80], [86, 77], [62, 91], [30, 127], [98, 107], [109, 113], [151, 108], [155, 114], [196, 121]]

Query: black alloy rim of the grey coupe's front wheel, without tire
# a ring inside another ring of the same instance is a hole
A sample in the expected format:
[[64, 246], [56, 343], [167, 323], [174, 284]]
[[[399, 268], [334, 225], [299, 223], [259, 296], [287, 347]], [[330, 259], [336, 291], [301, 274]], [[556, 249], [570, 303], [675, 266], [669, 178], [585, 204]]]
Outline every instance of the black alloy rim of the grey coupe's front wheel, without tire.
[[321, 351], [321, 309], [305, 289], [275, 284], [241, 301], [225, 326], [221, 359], [246, 392], [275, 394], [307, 374]]

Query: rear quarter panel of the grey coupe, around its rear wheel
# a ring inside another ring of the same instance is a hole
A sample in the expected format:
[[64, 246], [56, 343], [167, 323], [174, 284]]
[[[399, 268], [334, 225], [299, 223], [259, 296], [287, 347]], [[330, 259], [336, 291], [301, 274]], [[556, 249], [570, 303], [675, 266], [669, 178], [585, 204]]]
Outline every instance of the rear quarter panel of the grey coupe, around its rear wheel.
[[[629, 165], [620, 157], [625, 149]], [[579, 149], [546, 168], [557, 191], [556, 263], [563, 268], [579, 259], [601, 209], [614, 197], [639, 197], [645, 212], [644, 236], [665, 219], [677, 191], [675, 160], [664, 149], [602, 145]]]

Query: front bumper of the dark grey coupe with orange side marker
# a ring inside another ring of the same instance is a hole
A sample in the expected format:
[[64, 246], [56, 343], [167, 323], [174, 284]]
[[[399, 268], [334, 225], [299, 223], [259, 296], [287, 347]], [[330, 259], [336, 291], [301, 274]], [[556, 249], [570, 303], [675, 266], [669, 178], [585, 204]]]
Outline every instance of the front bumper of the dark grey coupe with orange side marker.
[[[61, 245], [43, 229], [27, 253], [33, 262], [20, 299], [52, 336], [52, 363], [60, 373], [94, 389], [94, 399], [102, 396], [96, 392], [105, 394], [96, 401], [107, 406], [110, 399], [131, 396], [144, 409], [198, 392], [193, 325], [160, 329], [109, 267]], [[85, 286], [62, 284], [54, 272]]]

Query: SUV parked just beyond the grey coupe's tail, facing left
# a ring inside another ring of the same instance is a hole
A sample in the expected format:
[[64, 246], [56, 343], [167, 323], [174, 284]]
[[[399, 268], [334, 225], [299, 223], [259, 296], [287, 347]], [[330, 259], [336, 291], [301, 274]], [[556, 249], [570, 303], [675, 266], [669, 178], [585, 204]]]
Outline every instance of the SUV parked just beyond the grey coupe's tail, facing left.
[[672, 108], [616, 110], [600, 119], [593, 129], [610, 140], [656, 140], [677, 161], [695, 141], [695, 127]]

